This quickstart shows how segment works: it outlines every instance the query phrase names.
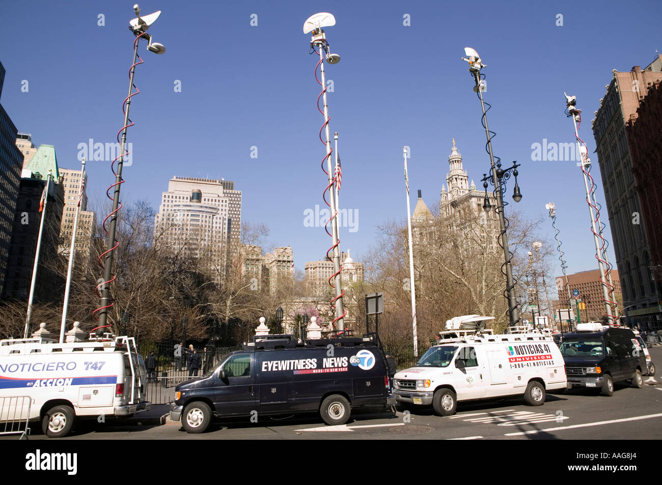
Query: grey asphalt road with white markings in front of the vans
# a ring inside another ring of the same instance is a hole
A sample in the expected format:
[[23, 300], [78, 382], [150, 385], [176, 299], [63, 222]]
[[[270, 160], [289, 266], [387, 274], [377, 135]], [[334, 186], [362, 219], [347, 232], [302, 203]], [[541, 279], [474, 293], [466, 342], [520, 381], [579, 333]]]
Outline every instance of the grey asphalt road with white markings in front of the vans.
[[[649, 351], [653, 362], [662, 365], [662, 346]], [[178, 422], [122, 426], [92, 421], [63, 439], [662, 439], [662, 379], [657, 381], [643, 389], [617, 383], [612, 397], [579, 388], [547, 394], [544, 406], [527, 406], [522, 398], [460, 403], [457, 414], [446, 418], [434, 416], [432, 408], [355, 413], [348, 424], [336, 427], [315, 415], [259, 418], [257, 423], [237, 418], [197, 435], [183, 431]], [[30, 435], [30, 440], [44, 438], [38, 430]]]

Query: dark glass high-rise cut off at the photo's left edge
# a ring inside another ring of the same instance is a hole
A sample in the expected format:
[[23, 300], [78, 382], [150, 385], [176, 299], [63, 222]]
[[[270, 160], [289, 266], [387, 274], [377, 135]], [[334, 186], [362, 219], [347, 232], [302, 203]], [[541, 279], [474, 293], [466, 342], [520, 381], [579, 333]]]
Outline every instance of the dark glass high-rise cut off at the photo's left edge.
[[[0, 63], [0, 96], [5, 83], [5, 67]], [[7, 259], [21, 186], [23, 153], [16, 146], [18, 130], [0, 104], [0, 295], [5, 289]]]

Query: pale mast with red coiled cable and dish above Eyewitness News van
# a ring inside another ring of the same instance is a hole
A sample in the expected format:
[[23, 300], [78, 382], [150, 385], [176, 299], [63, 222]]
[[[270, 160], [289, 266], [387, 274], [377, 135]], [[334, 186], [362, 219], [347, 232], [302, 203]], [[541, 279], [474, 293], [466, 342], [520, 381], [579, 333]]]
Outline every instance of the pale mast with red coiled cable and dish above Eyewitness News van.
[[[311, 15], [303, 23], [303, 33], [308, 34], [312, 32], [312, 37], [310, 38], [310, 54], [313, 52], [319, 54], [320, 60], [315, 65], [315, 80], [322, 86], [322, 92], [317, 96], [317, 109], [320, 113], [324, 115], [324, 124], [320, 129], [320, 141], [326, 146], [326, 156], [322, 159], [322, 170], [324, 174], [328, 177], [328, 184], [322, 193], [322, 198], [326, 205], [328, 205], [330, 210], [330, 219], [324, 224], [324, 230], [332, 239], [332, 246], [326, 251], [326, 258], [333, 260], [334, 274], [332, 274], [328, 280], [329, 285], [334, 288], [336, 296], [331, 299], [330, 305], [335, 313], [335, 318], [332, 321], [332, 326], [335, 326], [338, 330], [344, 330], [344, 318], [347, 315], [347, 312], [343, 307], [343, 296], [345, 294], [342, 291], [342, 280], [340, 278], [340, 272], [342, 272], [342, 267], [340, 266], [340, 241], [338, 239], [338, 205], [336, 204], [336, 184], [338, 182], [338, 176], [334, 172], [334, 167], [332, 165], [331, 153], [333, 151], [331, 147], [331, 134], [329, 130], [329, 115], [328, 115], [328, 104], [326, 102], [326, 78], [324, 77], [324, 60], [330, 64], [337, 64], [340, 62], [340, 56], [338, 54], [331, 54], [329, 50], [329, 44], [326, 42], [326, 34], [324, 33], [323, 27], [330, 27], [336, 24], [336, 19], [333, 15], [326, 12], [316, 13]], [[321, 72], [321, 81], [317, 77], [317, 68], [320, 68]], [[320, 110], [320, 98], [324, 104], [324, 110]], [[322, 139], [322, 130], [324, 131], [325, 139]], [[326, 168], [324, 168], [326, 162]], [[328, 192], [329, 200], [326, 200], [326, 193]], [[329, 231], [328, 226], [331, 226], [331, 231]], [[333, 251], [333, 258], [329, 256], [329, 253]], [[333, 282], [332, 282], [333, 281]]]

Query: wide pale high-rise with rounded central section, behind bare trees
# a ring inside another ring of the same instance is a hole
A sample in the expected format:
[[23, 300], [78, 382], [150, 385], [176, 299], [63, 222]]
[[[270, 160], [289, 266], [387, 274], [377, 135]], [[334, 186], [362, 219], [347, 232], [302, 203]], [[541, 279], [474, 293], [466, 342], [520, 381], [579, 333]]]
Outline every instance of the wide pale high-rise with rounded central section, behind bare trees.
[[156, 214], [156, 240], [227, 262], [240, 250], [241, 201], [230, 180], [175, 176]]

